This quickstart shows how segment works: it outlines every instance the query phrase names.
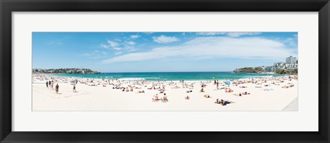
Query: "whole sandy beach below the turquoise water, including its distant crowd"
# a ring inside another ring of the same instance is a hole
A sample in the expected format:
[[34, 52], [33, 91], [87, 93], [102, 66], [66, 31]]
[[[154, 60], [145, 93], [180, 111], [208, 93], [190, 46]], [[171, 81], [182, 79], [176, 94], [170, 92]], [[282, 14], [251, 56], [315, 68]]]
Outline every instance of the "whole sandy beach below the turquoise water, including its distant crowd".
[[[51, 76], [32, 74], [33, 111], [298, 111], [296, 76], [234, 80], [229, 86], [225, 85], [226, 80], [219, 80], [219, 89], [214, 80], [184, 81], [183, 84], [95, 79], [91, 83], [91, 79]], [[54, 89], [58, 84], [58, 94], [46, 87], [46, 81], [50, 80], [54, 80]], [[76, 92], [73, 80], [77, 81]], [[129, 87], [129, 91], [122, 91], [120, 87]], [[160, 93], [163, 87], [167, 102], [160, 100], [164, 98], [164, 93]], [[204, 92], [200, 92], [202, 88]], [[229, 88], [232, 92], [227, 93]], [[248, 94], [242, 94], [245, 92]], [[156, 94], [157, 101], [153, 100]], [[204, 97], [206, 94], [211, 98]], [[234, 103], [216, 104], [217, 99]]]

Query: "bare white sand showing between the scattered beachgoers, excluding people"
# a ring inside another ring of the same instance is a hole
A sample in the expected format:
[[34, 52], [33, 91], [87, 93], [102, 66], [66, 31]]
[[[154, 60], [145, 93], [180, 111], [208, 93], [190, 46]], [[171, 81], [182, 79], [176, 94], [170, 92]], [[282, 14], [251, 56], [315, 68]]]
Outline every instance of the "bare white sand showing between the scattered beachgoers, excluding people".
[[[234, 90], [233, 93], [225, 93], [225, 89], [216, 90], [214, 83], [206, 83], [207, 87], [203, 88], [205, 93], [199, 92], [200, 82], [195, 82], [193, 89], [182, 88], [181, 83], [176, 83], [181, 88], [172, 89], [171, 87], [175, 85], [166, 83], [165, 93], [168, 96], [168, 102], [152, 101], [155, 94], [158, 94], [159, 98], [162, 98], [163, 94], [159, 94], [159, 91], [155, 89], [147, 89], [151, 87], [151, 83], [146, 87], [135, 85], [142, 89], [133, 89], [128, 92], [113, 89], [113, 85], [102, 87], [102, 85], [88, 86], [78, 83], [76, 85], [78, 92], [74, 93], [71, 83], [55, 82], [55, 85], [58, 83], [60, 86], [60, 94], [55, 94], [55, 90], [46, 87], [45, 80], [34, 78], [33, 82], [33, 111], [282, 111], [298, 97], [298, 80], [285, 80], [284, 83], [279, 83], [280, 85], [273, 85], [271, 81], [268, 81], [267, 84], [270, 87], [265, 87], [266, 83], [262, 83], [262, 85], [243, 84], [248, 88], [240, 88], [242, 85], [230, 85], [230, 88]], [[221, 84], [223, 84], [222, 82], [221, 80]], [[288, 83], [292, 83], [294, 87], [281, 88], [289, 85]], [[122, 87], [127, 87], [127, 85], [123, 84]], [[262, 88], [256, 88], [256, 86]], [[264, 89], [273, 90], [265, 91]], [[146, 93], [137, 94], [137, 91], [142, 90]], [[188, 90], [192, 90], [192, 93], [186, 93]], [[248, 91], [250, 95], [233, 95], [245, 91]], [[210, 94], [212, 98], [204, 98], [205, 94]], [[190, 100], [184, 98], [187, 95], [190, 96]], [[222, 106], [214, 103], [217, 98], [235, 103]], [[290, 109], [298, 110], [298, 100], [292, 106], [294, 107], [290, 107]]]

